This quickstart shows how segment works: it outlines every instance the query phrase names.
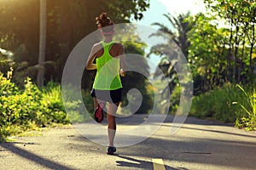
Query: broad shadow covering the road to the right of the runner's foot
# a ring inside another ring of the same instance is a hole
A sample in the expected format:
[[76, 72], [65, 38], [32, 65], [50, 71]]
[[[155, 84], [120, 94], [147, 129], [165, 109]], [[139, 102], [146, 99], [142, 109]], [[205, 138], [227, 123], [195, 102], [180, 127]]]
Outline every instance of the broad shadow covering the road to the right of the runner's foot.
[[170, 161], [183, 162], [188, 169], [191, 169], [189, 165], [216, 166], [223, 169], [225, 167], [255, 169], [255, 142], [181, 136], [158, 139], [162, 137], [155, 134], [154, 138], [148, 138], [140, 144], [131, 146], [129, 150], [123, 151], [128, 156], [134, 157], [138, 155], [137, 150], [143, 150], [139, 156], [161, 157], [164, 161], [169, 161], [167, 165], [170, 165]]

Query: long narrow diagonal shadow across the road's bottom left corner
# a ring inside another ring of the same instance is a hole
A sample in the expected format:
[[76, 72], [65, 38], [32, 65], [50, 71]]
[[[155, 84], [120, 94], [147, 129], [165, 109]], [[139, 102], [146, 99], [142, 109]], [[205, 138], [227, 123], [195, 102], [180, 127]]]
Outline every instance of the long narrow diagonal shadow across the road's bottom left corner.
[[[63, 170], [71, 170], [73, 168], [66, 167], [64, 165], [61, 165], [55, 161], [50, 161], [48, 159], [45, 159], [41, 156], [38, 156], [36, 154], [33, 154], [27, 150], [22, 150], [19, 147], [15, 146], [16, 143], [0, 143], [0, 146], [2, 146], [5, 150], [9, 150], [13, 152], [15, 155], [21, 156], [26, 158], [29, 161], [34, 161], [37, 164], [40, 164], [43, 167], [48, 167], [50, 169], [63, 169]], [[31, 144], [31, 143], [24, 143], [24, 144]]]

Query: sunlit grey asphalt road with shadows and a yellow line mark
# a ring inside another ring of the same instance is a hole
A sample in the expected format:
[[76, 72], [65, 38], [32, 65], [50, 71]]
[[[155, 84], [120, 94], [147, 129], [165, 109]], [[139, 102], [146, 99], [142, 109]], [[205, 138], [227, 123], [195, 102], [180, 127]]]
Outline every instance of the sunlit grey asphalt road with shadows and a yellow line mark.
[[[134, 124], [141, 121], [131, 119]], [[177, 126], [171, 120], [168, 116], [142, 142], [118, 147], [115, 156], [108, 156], [106, 146], [84, 138], [73, 126], [18, 137], [14, 142], [0, 143], [0, 169], [256, 169], [255, 132], [188, 117], [177, 133], [171, 134], [171, 127]], [[128, 126], [118, 122], [118, 129]]]

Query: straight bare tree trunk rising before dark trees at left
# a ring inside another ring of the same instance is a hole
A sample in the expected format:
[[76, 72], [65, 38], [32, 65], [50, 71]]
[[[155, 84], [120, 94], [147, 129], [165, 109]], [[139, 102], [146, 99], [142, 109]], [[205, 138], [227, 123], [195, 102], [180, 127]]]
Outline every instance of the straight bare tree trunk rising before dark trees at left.
[[39, 56], [38, 56], [38, 87], [44, 85], [44, 61], [46, 45], [46, 0], [40, 0], [40, 35], [39, 35]]

